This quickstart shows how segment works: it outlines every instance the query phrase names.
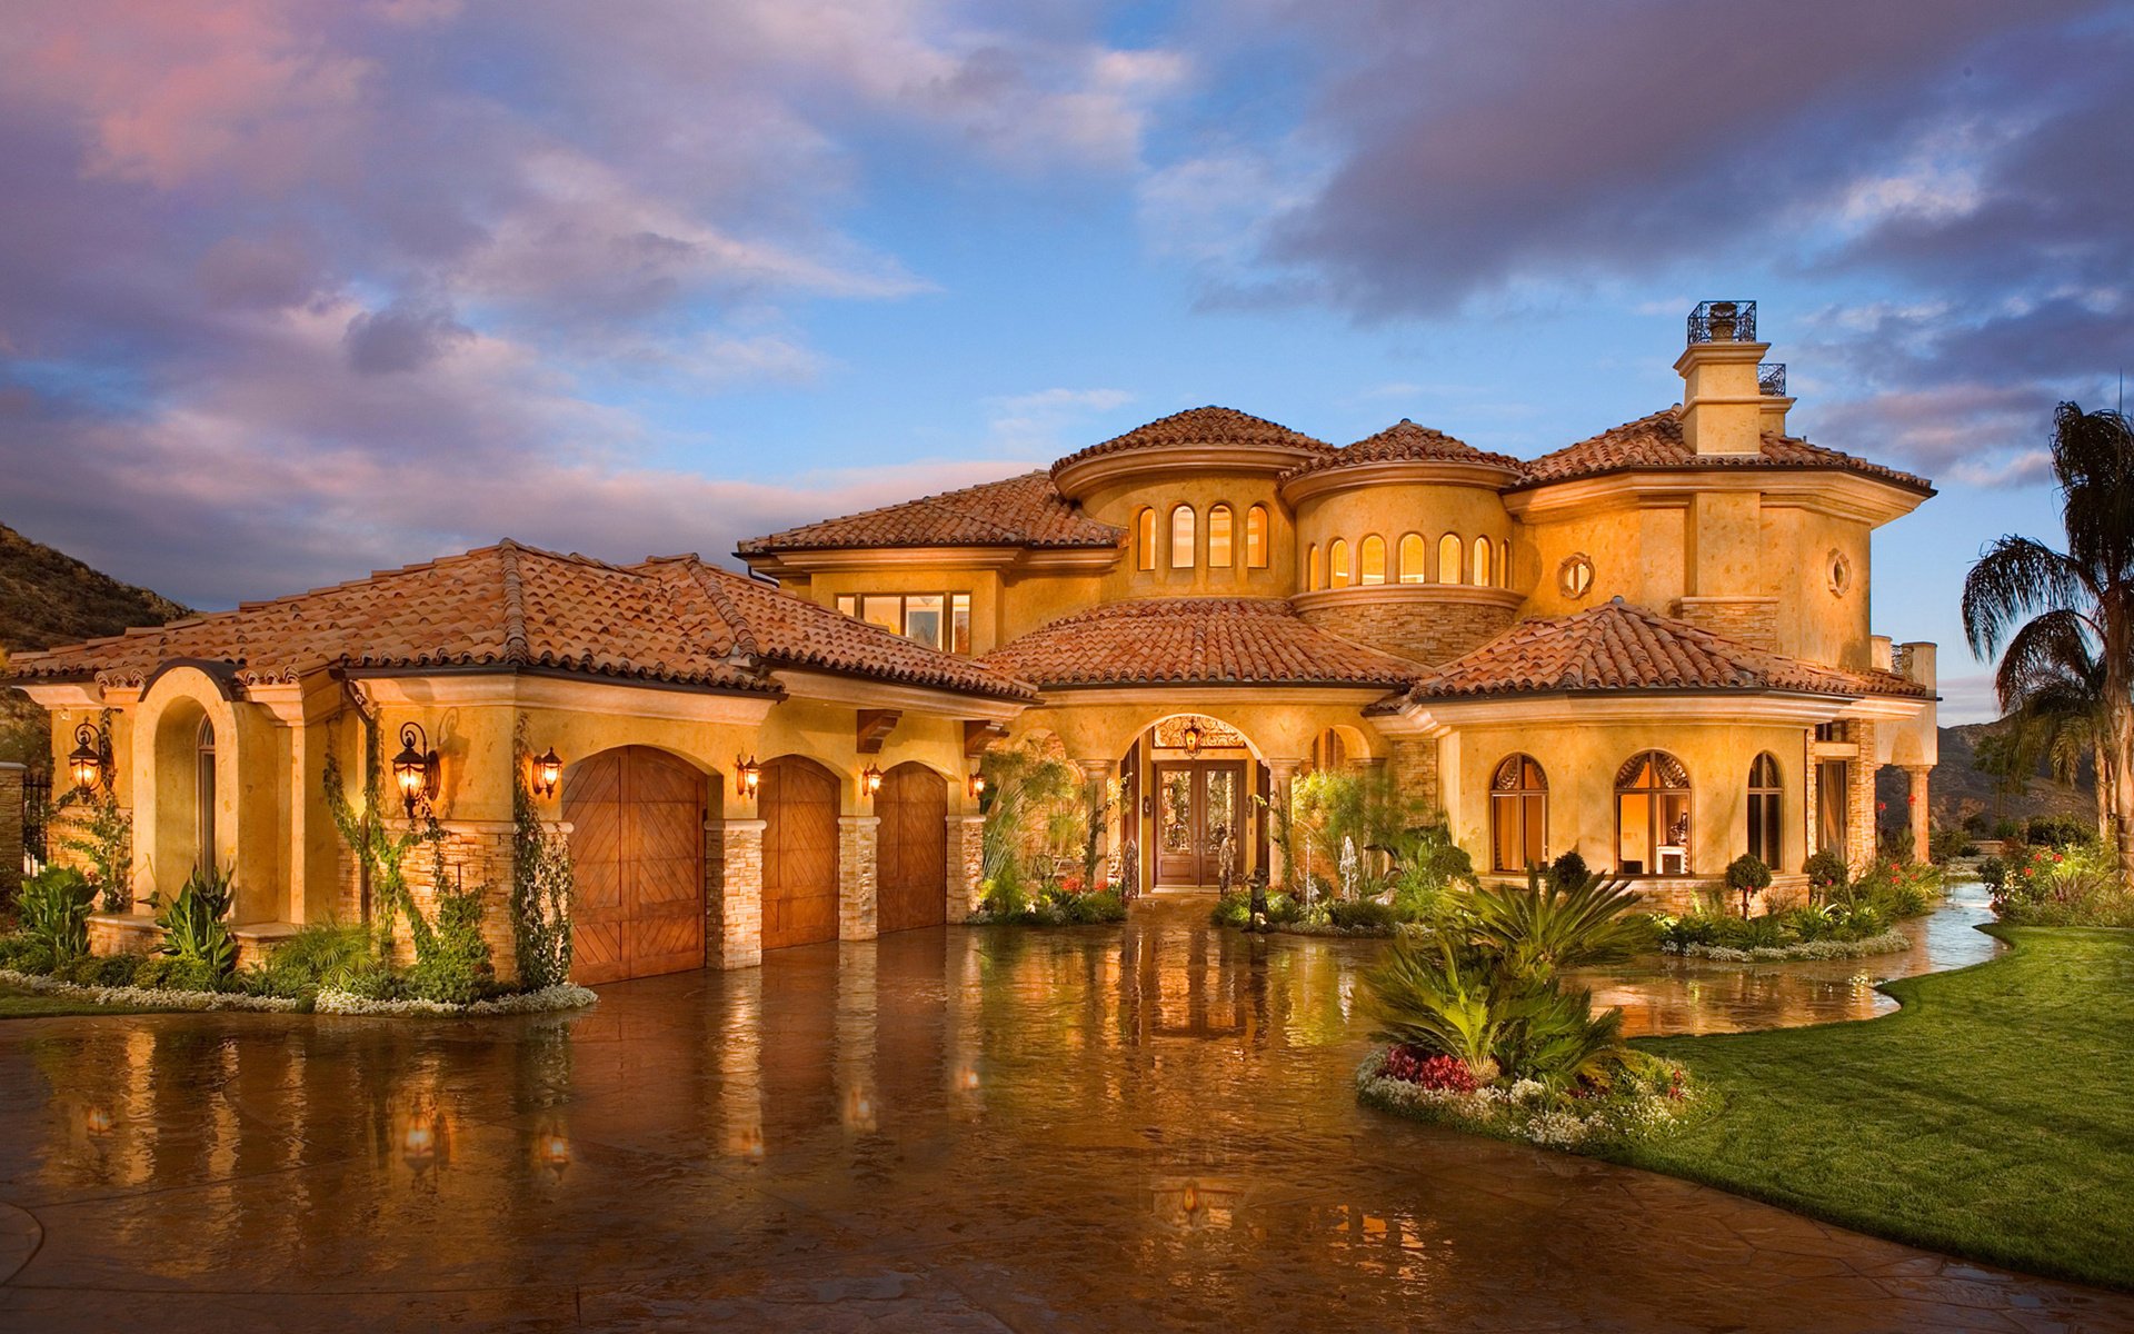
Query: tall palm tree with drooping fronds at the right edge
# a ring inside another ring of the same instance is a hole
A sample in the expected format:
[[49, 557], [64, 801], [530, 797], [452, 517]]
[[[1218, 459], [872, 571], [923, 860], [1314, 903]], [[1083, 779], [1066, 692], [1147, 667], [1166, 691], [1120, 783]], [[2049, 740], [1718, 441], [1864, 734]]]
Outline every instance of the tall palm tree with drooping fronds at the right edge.
[[[2096, 726], [2098, 785], [2111, 835], [2119, 845], [2119, 877], [2134, 886], [2134, 429], [2119, 412], [2053, 412], [2053, 476], [2068, 551], [2032, 538], [2004, 536], [1963, 581], [1963, 634], [1987, 657], [2006, 642], [2000, 683], [2038, 687], [2093, 664], [2102, 700]], [[2044, 623], [2044, 628], [2038, 628]], [[2019, 640], [2027, 640], [2019, 645]], [[2023, 696], [2027, 698], [2027, 696]], [[2006, 696], [2004, 696], [2006, 702]]]

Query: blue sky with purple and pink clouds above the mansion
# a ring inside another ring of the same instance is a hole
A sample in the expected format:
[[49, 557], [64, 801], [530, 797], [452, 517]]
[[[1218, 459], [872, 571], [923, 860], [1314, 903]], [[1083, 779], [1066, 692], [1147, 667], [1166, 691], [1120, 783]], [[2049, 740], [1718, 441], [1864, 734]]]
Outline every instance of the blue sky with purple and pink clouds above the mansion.
[[606, 559], [1225, 403], [1532, 457], [1754, 299], [1936, 480], [1876, 630], [2057, 540], [2134, 369], [2134, 6], [68, 0], [0, 15], [0, 523], [201, 608]]

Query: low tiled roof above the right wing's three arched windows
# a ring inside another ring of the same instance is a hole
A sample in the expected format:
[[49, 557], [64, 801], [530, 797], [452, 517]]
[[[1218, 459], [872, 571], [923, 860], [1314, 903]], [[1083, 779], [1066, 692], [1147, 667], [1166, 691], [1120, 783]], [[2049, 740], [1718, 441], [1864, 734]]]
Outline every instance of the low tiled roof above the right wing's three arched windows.
[[1754, 689], [1818, 696], [1918, 696], [1931, 689], [1893, 672], [1846, 672], [1630, 606], [1622, 598], [1541, 621], [1522, 621], [1426, 674], [1411, 700], [1611, 689]]

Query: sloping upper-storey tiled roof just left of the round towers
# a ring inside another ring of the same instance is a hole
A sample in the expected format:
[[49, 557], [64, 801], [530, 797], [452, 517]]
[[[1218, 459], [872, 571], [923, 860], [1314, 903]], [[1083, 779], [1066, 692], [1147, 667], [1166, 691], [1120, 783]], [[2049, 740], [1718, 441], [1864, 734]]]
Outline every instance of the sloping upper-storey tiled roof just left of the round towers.
[[1125, 529], [1097, 523], [1044, 472], [924, 495], [879, 510], [787, 527], [740, 542], [736, 555], [864, 546], [1118, 546]]

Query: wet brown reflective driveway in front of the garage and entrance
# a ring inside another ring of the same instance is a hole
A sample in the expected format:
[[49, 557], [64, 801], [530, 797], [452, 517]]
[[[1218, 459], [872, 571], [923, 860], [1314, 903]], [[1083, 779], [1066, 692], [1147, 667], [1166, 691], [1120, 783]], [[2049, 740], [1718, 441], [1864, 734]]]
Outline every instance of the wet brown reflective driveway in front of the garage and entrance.
[[1359, 1110], [1376, 946], [1204, 914], [790, 950], [570, 1020], [4, 1025], [0, 1328], [2134, 1330]]

